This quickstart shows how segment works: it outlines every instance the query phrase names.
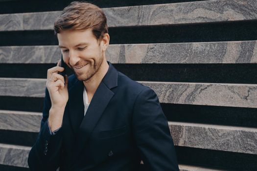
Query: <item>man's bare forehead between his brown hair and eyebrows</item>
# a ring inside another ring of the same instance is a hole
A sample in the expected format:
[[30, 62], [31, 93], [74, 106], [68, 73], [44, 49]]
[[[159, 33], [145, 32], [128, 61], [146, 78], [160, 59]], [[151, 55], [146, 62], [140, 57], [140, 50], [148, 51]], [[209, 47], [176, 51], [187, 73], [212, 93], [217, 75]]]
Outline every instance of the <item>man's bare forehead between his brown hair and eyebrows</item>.
[[92, 29], [87, 30], [65, 30], [57, 34], [59, 46], [74, 46], [78, 43], [95, 43], [96, 38]]

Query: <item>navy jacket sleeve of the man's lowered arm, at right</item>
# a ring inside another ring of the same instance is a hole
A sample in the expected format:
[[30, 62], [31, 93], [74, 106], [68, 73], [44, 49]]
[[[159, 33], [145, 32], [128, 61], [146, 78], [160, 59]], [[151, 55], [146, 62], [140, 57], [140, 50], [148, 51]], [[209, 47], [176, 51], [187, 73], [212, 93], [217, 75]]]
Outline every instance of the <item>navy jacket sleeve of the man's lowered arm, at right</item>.
[[133, 131], [147, 171], [179, 171], [167, 119], [150, 88], [144, 88], [136, 99]]

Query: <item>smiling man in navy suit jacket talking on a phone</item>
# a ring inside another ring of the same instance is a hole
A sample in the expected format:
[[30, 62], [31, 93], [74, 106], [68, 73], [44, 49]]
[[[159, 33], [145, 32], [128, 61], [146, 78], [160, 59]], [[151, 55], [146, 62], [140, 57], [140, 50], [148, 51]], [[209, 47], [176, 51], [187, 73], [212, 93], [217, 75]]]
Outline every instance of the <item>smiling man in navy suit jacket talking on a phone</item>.
[[[178, 171], [173, 141], [159, 100], [106, 61], [106, 17], [72, 2], [54, 23], [64, 62], [47, 71], [43, 119], [30, 150], [32, 171]], [[129, 34], [129, 33], [128, 33]]]

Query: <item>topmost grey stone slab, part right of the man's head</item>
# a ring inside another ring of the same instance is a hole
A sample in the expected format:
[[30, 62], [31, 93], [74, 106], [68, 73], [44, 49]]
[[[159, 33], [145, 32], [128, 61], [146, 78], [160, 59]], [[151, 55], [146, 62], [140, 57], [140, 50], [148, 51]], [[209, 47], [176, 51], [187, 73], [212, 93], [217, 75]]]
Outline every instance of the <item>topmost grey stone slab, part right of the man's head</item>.
[[111, 26], [162, 25], [257, 19], [256, 0], [205, 0], [105, 10]]

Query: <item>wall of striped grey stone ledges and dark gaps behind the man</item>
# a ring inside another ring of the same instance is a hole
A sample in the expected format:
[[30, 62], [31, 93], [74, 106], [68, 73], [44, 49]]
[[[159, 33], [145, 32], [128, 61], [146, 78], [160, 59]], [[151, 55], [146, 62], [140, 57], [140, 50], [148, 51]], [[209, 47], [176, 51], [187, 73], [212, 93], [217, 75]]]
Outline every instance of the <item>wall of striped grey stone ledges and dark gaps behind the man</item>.
[[[28, 171], [53, 21], [70, 0], [0, 1], [0, 171]], [[108, 60], [157, 93], [181, 171], [257, 169], [257, 1], [97, 0]]]

